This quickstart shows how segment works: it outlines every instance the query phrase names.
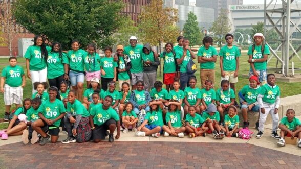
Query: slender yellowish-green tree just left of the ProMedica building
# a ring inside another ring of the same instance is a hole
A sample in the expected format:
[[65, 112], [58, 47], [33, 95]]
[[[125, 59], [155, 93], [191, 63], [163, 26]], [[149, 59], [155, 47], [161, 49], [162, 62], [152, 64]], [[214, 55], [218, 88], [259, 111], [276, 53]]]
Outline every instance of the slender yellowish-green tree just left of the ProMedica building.
[[224, 36], [231, 30], [227, 10], [221, 10], [219, 17], [213, 22], [210, 30], [214, 33], [214, 41], [221, 47], [221, 44], [226, 42]]

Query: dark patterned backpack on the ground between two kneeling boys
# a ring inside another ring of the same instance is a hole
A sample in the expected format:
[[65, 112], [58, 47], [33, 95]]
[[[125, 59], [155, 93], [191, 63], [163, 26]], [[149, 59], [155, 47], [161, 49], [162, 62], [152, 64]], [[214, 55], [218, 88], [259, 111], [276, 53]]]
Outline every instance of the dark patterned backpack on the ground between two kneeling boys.
[[77, 127], [77, 142], [87, 142], [92, 136], [92, 130], [89, 123], [89, 118], [82, 117]]

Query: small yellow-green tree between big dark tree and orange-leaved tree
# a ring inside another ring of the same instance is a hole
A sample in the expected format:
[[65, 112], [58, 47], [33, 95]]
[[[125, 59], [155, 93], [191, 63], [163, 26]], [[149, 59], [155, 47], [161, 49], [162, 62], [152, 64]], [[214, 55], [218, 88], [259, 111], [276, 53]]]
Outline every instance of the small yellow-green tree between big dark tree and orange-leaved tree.
[[114, 34], [114, 37], [117, 39], [117, 44], [126, 46], [131, 36], [138, 36], [138, 27], [135, 27], [134, 21], [130, 17], [127, 17], [117, 33]]

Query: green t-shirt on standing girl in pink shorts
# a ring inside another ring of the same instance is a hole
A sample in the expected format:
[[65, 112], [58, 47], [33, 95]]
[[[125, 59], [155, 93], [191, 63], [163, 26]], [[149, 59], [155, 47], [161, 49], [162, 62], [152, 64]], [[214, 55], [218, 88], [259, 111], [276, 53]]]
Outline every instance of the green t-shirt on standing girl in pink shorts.
[[85, 71], [94, 72], [100, 70], [101, 58], [98, 53], [90, 54], [87, 52], [83, 55], [83, 58]]

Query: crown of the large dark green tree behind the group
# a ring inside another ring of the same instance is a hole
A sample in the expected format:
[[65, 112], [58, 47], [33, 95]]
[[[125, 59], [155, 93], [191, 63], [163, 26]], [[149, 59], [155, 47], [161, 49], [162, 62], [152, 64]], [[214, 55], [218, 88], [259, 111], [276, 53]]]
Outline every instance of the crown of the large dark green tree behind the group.
[[59, 41], [65, 50], [73, 39], [82, 46], [94, 42], [104, 49], [112, 45], [110, 35], [121, 26], [123, 5], [110, 0], [18, 0], [14, 15], [27, 30], [51, 42]]

